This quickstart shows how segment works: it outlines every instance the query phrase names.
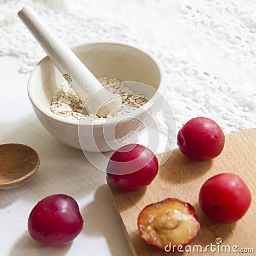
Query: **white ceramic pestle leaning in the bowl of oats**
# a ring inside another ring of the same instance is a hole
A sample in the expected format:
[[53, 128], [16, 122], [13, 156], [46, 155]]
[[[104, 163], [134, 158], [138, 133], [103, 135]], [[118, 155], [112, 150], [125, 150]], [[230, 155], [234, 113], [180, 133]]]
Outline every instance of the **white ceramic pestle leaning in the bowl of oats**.
[[[49, 55], [63, 77], [72, 85], [72, 88], [80, 99], [86, 102], [92, 95], [94, 96], [93, 104], [85, 104], [87, 113], [99, 113], [98, 110], [102, 104], [115, 97], [115, 95], [108, 92], [108, 90], [99, 83], [97, 78], [93, 76], [90, 70], [77, 58], [74, 52], [63, 44], [60, 39], [50, 33], [45, 25], [36, 17], [31, 8], [24, 6], [24, 8], [18, 12], [18, 16], [42, 46], [44, 51]], [[120, 104], [119, 100], [115, 100], [115, 102], [116, 104]], [[115, 104], [113, 106], [116, 108]], [[104, 109], [106, 110], [108, 108]], [[109, 113], [103, 113], [102, 116], [108, 114]]]

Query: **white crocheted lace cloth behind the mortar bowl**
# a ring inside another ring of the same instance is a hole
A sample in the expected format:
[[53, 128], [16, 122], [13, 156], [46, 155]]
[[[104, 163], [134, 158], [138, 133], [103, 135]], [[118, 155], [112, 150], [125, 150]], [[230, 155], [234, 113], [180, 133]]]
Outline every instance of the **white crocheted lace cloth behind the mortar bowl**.
[[0, 56], [17, 57], [23, 73], [45, 55], [17, 17], [25, 4], [67, 45], [119, 40], [152, 52], [177, 130], [195, 116], [226, 134], [256, 126], [255, 1], [0, 0]]

